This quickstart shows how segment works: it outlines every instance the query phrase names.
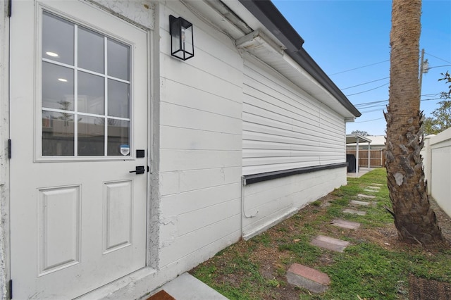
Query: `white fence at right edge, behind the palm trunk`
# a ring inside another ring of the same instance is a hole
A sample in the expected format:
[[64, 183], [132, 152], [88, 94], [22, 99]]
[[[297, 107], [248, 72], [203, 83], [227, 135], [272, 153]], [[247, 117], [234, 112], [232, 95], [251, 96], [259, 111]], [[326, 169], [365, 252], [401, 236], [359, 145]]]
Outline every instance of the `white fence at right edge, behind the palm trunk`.
[[451, 128], [428, 136], [421, 150], [428, 194], [451, 215]]

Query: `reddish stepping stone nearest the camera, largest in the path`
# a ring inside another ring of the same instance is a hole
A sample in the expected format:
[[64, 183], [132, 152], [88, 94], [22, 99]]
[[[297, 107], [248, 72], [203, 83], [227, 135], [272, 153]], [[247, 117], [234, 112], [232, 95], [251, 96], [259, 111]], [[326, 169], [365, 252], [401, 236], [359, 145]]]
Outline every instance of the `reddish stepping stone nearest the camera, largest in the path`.
[[314, 293], [325, 292], [330, 285], [330, 278], [326, 273], [309, 268], [306, 265], [300, 265], [299, 263], [290, 265], [287, 272], [287, 280], [291, 285], [304, 287], [304, 289], [308, 289]]

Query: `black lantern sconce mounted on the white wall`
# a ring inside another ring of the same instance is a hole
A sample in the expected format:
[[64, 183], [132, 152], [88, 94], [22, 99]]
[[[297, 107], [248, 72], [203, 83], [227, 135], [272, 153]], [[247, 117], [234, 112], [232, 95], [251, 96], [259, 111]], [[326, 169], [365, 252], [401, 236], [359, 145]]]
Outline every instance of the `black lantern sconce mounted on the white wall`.
[[169, 34], [171, 35], [171, 55], [186, 61], [194, 56], [192, 24], [182, 17], [169, 15]]

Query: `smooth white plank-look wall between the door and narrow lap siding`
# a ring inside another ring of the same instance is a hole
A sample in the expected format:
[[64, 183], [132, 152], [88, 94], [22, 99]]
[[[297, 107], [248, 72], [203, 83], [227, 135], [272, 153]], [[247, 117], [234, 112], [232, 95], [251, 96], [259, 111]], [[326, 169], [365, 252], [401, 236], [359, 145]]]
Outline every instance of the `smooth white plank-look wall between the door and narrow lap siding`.
[[[189, 270], [240, 238], [242, 58], [229, 37], [178, 1], [167, 4], [159, 15], [159, 266]], [[170, 14], [194, 25], [190, 60], [170, 54]]]

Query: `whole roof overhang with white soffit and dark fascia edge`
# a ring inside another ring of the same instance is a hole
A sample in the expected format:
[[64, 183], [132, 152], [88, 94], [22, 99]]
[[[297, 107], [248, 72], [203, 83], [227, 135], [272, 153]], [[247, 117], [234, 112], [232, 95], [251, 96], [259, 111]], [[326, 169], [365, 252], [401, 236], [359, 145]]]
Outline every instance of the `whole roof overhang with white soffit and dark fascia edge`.
[[304, 40], [270, 0], [182, 0], [304, 92], [342, 115], [361, 113], [302, 48]]

